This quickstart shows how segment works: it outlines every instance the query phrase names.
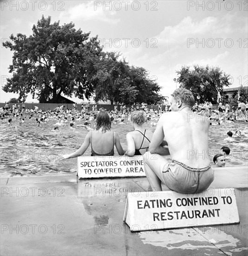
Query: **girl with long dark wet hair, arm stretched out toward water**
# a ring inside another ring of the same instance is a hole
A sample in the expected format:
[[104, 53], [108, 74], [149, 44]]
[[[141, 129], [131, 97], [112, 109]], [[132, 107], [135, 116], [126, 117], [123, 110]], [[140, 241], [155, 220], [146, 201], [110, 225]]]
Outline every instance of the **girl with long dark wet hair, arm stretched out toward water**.
[[91, 156], [114, 155], [114, 145], [119, 155], [124, 155], [120, 137], [117, 132], [110, 131], [110, 117], [105, 111], [100, 111], [96, 117], [96, 129], [87, 133], [82, 146], [72, 154], [61, 155], [59, 159], [69, 159], [81, 156], [91, 144]]

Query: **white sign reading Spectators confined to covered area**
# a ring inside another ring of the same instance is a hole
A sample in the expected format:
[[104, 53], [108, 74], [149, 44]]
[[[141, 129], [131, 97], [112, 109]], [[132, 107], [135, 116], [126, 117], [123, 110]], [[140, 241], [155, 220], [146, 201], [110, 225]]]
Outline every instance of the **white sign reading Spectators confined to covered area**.
[[142, 155], [80, 156], [77, 175], [79, 179], [146, 176]]

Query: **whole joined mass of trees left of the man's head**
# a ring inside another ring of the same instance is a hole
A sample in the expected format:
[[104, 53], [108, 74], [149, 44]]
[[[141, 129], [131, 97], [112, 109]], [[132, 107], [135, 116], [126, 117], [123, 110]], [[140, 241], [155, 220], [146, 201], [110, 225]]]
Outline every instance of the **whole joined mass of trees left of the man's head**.
[[61, 94], [126, 104], [161, 98], [147, 70], [130, 67], [120, 54], [103, 52], [97, 36], [90, 38], [90, 32], [76, 30], [72, 22], [60, 26], [42, 16], [32, 30], [29, 37], [11, 34], [11, 41], [3, 42], [13, 51], [12, 77], [3, 90], [18, 93], [19, 101], [29, 93], [40, 102], [56, 102]]

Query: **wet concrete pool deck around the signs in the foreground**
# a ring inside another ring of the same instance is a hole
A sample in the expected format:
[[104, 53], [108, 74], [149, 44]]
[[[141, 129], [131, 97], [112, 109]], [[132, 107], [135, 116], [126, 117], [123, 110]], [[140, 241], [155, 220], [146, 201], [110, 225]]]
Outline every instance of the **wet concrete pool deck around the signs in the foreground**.
[[123, 222], [127, 192], [146, 191], [146, 178], [78, 180], [73, 173], [1, 177], [0, 182], [2, 256], [248, 255], [244, 166], [216, 169], [211, 184], [235, 188], [239, 224], [134, 233]]

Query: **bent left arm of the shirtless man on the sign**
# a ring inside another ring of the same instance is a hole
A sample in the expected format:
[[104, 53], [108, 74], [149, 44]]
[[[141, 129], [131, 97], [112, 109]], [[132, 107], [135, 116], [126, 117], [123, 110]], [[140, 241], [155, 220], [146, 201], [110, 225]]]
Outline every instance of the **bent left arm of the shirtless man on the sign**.
[[149, 146], [149, 151], [151, 154], [169, 155], [168, 147], [163, 147], [167, 144], [167, 142], [164, 141], [163, 122], [164, 115], [162, 115], [159, 119], [156, 130], [154, 131], [154, 135]]

